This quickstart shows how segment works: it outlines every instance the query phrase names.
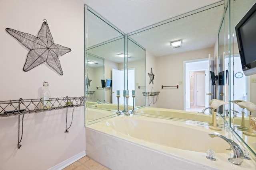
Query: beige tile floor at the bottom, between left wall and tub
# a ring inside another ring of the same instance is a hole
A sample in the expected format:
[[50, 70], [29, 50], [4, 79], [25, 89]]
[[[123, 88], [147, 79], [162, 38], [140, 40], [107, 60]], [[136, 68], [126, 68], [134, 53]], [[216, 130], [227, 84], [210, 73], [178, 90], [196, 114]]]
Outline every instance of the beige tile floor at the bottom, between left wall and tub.
[[70, 166], [67, 166], [63, 170], [110, 170], [110, 169], [90, 159], [88, 156], [84, 156], [83, 158], [74, 162]]

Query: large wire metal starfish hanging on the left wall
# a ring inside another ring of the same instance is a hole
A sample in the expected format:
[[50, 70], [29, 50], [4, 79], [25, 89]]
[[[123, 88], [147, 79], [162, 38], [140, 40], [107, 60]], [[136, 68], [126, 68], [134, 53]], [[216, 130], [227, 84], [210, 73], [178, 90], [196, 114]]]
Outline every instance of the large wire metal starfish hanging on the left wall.
[[71, 49], [53, 43], [52, 34], [45, 19], [37, 37], [10, 28], [6, 28], [6, 31], [30, 49], [23, 67], [24, 71], [29, 71], [46, 62], [56, 72], [63, 75], [58, 57], [70, 52]]

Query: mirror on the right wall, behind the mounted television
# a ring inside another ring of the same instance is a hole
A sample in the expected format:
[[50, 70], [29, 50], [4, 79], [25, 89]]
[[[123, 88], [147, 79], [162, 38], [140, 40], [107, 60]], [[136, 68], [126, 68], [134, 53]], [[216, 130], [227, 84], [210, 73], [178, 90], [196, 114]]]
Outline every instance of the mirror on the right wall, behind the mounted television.
[[[245, 76], [238, 51], [235, 26], [244, 17], [248, 10], [256, 3], [256, 0], [230, 0], [230, 101], [242, 100], [256, 104], [256, 83], [252, 82], [256, 74]], [[228, 41], [228, 37], [226, 37]], [[250, 113], [242, 109], [238, 104], [231, 102], [230, 121], [231, 128], [250, 147], [256, 155], [256, 134], [247, 135], [249, 128], [249, 116], [256, 117], [256, 112]], [[244, 112], [244, 113], [243, 113]]]

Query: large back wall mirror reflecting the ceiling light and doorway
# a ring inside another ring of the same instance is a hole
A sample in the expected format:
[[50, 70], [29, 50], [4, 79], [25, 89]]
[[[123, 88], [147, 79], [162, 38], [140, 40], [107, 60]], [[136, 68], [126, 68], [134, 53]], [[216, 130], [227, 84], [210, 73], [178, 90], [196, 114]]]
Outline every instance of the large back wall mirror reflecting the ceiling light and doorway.
[[[160, 94], [150, 107], [193, 111], [198, 117], [203, 115], [205, 122], [211, 121], [211, 109], [206, 108], [211, 99], [219, 96], [215, 94], [218, 83], [212, 85], [210, 71], [216, 70], [214, 59], [218, 58], [218, 31], [223, 16], [224, 2], [218, 2], [128, 34], [146, 48], [146, 73], [150, 73], [150, 68], [153, 68], [155, 74], [154, 85], [146, 81], [146, 92], [150, 92], [153, 86], [154, 91], [159, 91]], [[179, 39], [182, 40], [181, 47], [173, 48], [170, 41]], [[187, 62], [186, 70], [184, 62]], [[201, 75], [204, 78], [202, 84], [192, 87], [196, 76]], [[162, 85], [177, 84], [178, 88], [161, 88]], [[200, 94], [196, 90], [201, 89], [199, 85], [204, 90]], [[192, 88], [194, 92], [190, 91]], [[152, 99], [146, 100], [150, 102]], [[193, 110], [194, 108], [196, 109]], [[203, 109], [206, 109], [204, 113]], [[194, 120], [189, 116], [184, 119]], [[224, 127], [224, 117], [218, 120], [218, 124]]]

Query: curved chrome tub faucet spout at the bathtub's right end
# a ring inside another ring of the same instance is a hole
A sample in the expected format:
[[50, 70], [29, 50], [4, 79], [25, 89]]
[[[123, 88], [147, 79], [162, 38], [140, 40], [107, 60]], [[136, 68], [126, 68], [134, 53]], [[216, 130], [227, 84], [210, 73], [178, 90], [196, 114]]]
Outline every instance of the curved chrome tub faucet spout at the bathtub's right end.
[[230, 150], [233, 149], [234, 156], [233, 158], [228, 158], [228, 161], [232, 164], [240, 165], [244, 161], [244, 152], [241, 147], [231, 139], [228, 139], [227, 137], [224, 137], [222, 135], [218, 134], [209, 134], [210, 137], [220, 137], [221, 139], [224, 139], [229, 145]]

